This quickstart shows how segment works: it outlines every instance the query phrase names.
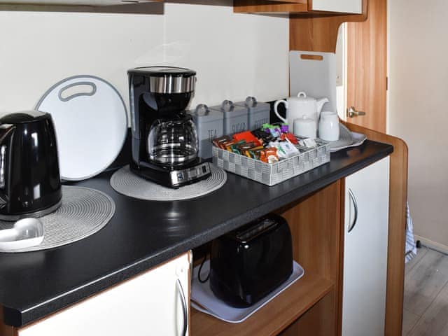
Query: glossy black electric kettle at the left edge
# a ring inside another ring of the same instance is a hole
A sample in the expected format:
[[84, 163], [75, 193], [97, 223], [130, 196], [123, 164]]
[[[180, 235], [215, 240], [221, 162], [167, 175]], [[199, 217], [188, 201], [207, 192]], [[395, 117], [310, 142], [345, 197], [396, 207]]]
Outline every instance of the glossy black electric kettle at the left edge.
[[55, 127], [48, 113], [0, 118], [0, 219], [41, 217], [61, 204]]

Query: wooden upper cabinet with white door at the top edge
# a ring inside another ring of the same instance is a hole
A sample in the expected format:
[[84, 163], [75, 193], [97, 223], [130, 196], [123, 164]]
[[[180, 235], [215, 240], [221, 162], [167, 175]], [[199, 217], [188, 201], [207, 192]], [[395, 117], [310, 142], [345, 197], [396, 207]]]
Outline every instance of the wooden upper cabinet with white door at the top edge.
[[234, 0], [235, 13], [283, 13], [321, 17], [363, 13], [363, 0]]

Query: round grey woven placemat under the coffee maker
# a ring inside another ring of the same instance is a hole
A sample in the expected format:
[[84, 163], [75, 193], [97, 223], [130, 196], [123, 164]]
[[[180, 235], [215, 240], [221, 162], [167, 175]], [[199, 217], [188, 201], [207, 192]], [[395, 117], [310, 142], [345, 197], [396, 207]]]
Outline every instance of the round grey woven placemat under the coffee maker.
[[148, 201], [179, 201], [207, 195], [224, 186], [227, 174], [223, 169], [210, 165], [209, 178], [183, 186], [179, 189], [167, 188], [132, 173], [129, 166], [115, 172], [111, 177], [111, 186], [118, 193]]

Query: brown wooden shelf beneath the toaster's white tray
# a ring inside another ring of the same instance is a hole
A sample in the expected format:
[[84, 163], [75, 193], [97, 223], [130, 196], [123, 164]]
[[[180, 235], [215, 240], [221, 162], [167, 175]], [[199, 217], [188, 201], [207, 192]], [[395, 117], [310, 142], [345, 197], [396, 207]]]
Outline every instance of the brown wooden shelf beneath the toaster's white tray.
[[242, 323], [227, 323], [191, 309], [191, 335], [277, 335], [334, 290], [332, 281], [305, 274], [288, 289]]

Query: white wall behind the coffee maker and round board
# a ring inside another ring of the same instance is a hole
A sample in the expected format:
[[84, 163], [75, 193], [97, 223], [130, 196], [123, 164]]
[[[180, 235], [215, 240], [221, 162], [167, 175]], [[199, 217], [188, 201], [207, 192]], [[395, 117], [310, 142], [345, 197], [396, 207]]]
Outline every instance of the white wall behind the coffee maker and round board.
[[127, 69], [175, 65], [197, 71], [191, 106], [288, 95], [288, 19], [232, 13], [232, 6], [166, 3], [164, 15], [0, 12], [0, 114], [32, 109], [67, 76], [118, 87]]

